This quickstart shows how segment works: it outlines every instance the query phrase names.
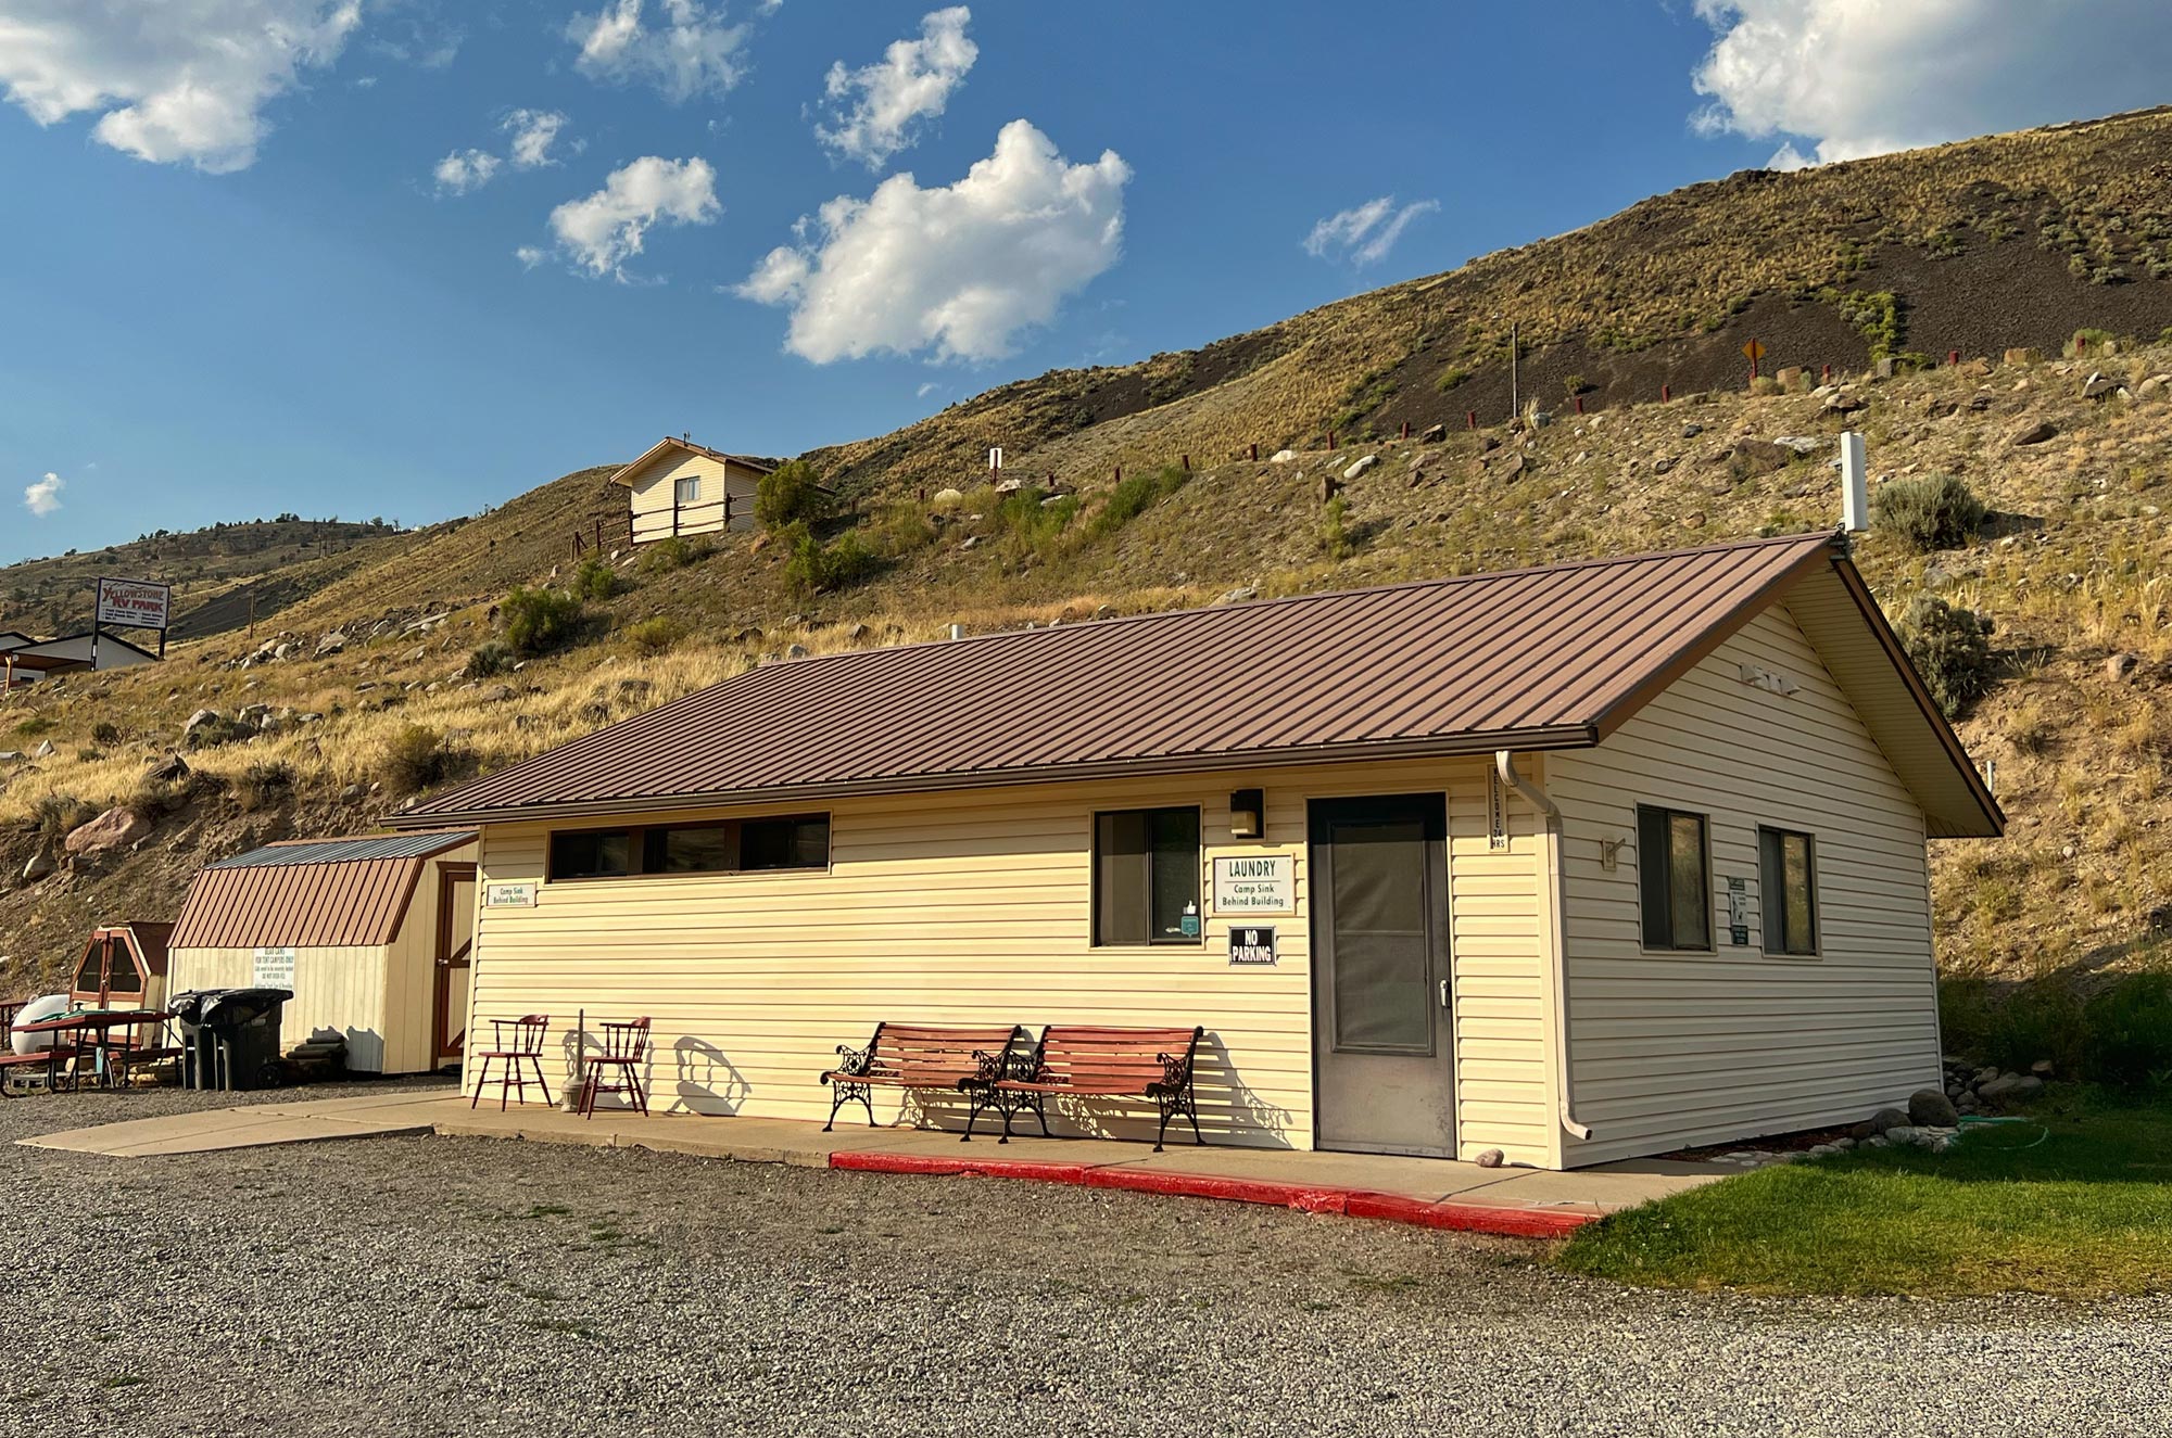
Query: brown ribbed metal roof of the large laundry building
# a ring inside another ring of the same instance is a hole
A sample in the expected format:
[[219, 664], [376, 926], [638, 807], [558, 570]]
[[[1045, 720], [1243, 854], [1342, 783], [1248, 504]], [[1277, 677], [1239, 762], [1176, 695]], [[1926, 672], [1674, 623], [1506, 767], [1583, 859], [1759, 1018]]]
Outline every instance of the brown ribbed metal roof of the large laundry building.
[[1794, 534], [765, 665], [389, 823], [1588, 747], [1833, 569]]

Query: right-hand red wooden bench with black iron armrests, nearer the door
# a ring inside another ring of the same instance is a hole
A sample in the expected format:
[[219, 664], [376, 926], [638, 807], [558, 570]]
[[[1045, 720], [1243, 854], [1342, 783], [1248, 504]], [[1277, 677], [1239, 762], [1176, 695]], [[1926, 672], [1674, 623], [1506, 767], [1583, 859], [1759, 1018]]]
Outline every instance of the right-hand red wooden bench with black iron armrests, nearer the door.
[[[1040, 1030], [1040, 1043], [1014, 1049], [1006, 1075], [988, 1086], [990, 1106], [1003, 1110], [1003, 1136], [1019, 1110], [1034, 1110], [1040, 1134], [1049, 1134], [1047, 1099], [1051, 1093], [1093, 1099], [1138, 1099], [1153, 1103], [1162, 1125], [1153, 1134], [1153, 1151], [1162, 1151], [1169, 1121], [1184, 1114], [1192, 1121], [1192, 1143], [1199, 1134], [1199, 1101], [1192, 1097], [1192, 1062], [1199, 1056], [1203, 1027], [1101, 1027], [1084, 1023], [1051, 1023]], [[973, 1125], [967, 1123], [967, 1138]]]

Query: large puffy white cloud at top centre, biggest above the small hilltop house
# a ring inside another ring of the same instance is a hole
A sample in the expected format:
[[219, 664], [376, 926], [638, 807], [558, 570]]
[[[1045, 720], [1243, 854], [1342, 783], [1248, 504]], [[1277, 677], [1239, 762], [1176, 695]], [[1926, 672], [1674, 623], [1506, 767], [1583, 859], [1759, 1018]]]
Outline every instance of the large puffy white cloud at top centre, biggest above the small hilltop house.
[[830, 200], [736, 293], [788, 306], [784, 345], [817, 365], [877, 350], [1001, 358], [1116, 263], [1129, 178], [1114, 150], [1069, 165], [1012, 119], [956, 185], [893, 174], [867, 200]]

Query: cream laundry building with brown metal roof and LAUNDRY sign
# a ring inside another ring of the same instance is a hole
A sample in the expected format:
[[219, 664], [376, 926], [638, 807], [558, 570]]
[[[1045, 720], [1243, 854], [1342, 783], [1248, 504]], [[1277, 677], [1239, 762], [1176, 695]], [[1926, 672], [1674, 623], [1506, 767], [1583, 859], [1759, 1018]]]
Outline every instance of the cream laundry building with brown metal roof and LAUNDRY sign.
[[645, 1014], [658, 1106], [1203, 1025], [1221, 1143], [1564, 1169], [1940, 1084], [1927, 843], [2005, 819], [1794, 534], [765, 665], [393, 823], [482, 832], [476, 1021]]

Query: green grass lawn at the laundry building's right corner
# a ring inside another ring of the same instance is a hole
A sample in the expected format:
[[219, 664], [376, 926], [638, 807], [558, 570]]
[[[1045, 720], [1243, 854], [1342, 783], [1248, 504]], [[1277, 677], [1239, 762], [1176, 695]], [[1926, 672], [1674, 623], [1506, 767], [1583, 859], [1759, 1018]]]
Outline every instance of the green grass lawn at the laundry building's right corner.
[[1759, 1169], [1592, 1223], [1557, 1262], [1788, 1295], [2172, 1292], [2172, 1106], [2068, 1095], [1946, 1153]]

